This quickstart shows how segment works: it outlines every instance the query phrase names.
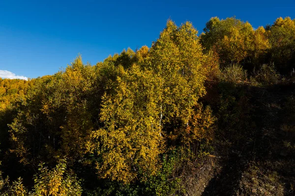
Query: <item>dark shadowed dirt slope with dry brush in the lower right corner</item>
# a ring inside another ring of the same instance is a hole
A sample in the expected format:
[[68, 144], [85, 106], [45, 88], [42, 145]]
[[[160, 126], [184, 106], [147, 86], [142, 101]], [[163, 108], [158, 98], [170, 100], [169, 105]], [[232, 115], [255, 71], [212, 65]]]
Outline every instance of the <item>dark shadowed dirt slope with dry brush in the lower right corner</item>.
[[295, 118], [288, 110], [295, 86], [248, 91], [255, 131], [245, 132], [245, 142], [226, 153], [221, 150], [222, 157], [210, 168], [215, 175], [204, 183], [202, 196], [295, 195]]

